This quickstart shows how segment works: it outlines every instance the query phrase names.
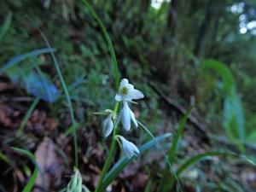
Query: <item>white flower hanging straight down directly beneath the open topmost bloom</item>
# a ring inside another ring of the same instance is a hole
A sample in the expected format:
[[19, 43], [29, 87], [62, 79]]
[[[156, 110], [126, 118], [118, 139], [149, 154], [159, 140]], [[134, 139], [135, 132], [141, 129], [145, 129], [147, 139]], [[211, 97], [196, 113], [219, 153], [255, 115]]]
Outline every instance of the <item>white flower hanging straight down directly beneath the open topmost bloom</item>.
[[123, 102], [123, 108], [119, 113], [119, 119], [122, 120], [123, 126], [126, 131], [131, 129], [131, 119], [137, 127], [137, 120], [135, 119], [134, 113], [129, 108], [128, 102]]

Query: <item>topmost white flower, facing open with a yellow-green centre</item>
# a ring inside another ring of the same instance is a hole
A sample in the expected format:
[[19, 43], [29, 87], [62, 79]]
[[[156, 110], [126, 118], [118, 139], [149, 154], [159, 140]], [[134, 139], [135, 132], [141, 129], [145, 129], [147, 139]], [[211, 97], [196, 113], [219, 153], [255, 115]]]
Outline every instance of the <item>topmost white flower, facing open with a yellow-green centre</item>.
[[129, 84], [128, 79], [122, 79], [119, 85], [119, 92], [115, 95], [115, 100], [118, 102], [131, 102], [133, 99], [141, 99], [143, 97], [143, 93], [134, 89], [134, 86]]

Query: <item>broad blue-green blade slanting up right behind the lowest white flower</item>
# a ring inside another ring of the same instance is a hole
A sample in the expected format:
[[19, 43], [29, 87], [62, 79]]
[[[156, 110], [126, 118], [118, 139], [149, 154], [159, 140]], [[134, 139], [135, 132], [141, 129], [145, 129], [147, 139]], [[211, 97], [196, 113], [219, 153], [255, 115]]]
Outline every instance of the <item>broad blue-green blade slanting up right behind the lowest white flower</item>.
[[[149, 148], [153, 148], [156, 144], [163, 142], [166, 138], [171, 137], [172, 134], [166, 133], [164, 135], [161, 135], [159, 137], [155, 137], [155, 139], [150, 140], [148, 143], [143, 144], [139, 148], [140, 154], [143, 154], [146, 150]], [[104, 179], [102, 186], [100, 188], [100, 191], [102, 189], [106, 189], [110, 183], [113, 182], [113, 179], [119, 175], [120, 172], [122, 172], [125, 169], [125, 166], [128, 166], [132, 160], [134, 160], [135, 157], [129, 159], [126, 157], [121, 158], [108, 172], [106, 178]]]

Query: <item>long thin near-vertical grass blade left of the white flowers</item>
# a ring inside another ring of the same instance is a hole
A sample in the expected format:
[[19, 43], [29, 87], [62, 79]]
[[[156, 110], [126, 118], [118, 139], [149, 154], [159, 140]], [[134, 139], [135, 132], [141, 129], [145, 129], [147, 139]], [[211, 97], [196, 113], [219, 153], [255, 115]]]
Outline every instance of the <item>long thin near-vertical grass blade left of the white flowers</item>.
[[[32, 20], [31, 20], [31, 22], [32, 22]], [[42, 38], [44, 39], [44, 43], [47, 45], [47, 47], [49, 49], [51, 49], [49, 41], [45, 37], [44, 32], [42, 32], [38, 28], [38, 26], [36, 26], [33, 22], [32, 22], [32, 24], [38, 29], [38, 32], [40, 32]], [[57, 59], [55, 57], [54, 52], [50, 51], [50, 55], [51, 55], [51, 57], [52, 57], [52, 59], [54, 61], [56, 72], [57, 72], [57, 74], [59, 76], [59, 79], [61, 81], [61, 86], [62, 86], [62, 88], [64, 90], [64, 93], [65, 93], [65, 96], [66, 96], [66, 99], [67, 99], [67, 105], [68, 105], [68, 109], [69, 109], [69, 113], [70, 113], [70, 118], [71, 118], [72, 124], [75, 125], [76, 121], [75, 121], [75, 118], [74, 118], [72, 102], [71, 102], [71, 99], [70, 99], [70, 96], [69, 96], [69, 92], [67, 90], [67, 84], [65, 83], [65, 80], [63, 79], [63, 76], [62, 76], [62, 73], [61, 73], [61, 68], [60, 68], [59, 62], [57, 61]], [[74, 140], [75, 166], [77, 168], [79, 168], [79, 146], [78, 146], [77, 132], [75, 130], [73, 131], [73, 140]]]

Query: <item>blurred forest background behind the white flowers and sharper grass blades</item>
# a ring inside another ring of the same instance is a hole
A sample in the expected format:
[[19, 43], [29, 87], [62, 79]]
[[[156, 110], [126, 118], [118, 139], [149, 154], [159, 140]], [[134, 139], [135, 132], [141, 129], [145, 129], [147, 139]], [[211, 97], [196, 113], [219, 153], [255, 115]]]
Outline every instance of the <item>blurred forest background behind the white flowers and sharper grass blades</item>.
[[[136, 115], [154, 135], [175, 132], [183, 113], [195, 105], [178, 160], [210, 149], [255, 160], [255, 0], [90, 4], [107, 26], [121, 77], [146, 97]], [[50, 191], [63, 188], [73, 171], [71, 122], [53, 61], [49, 54], [26, 56], [47, 47], [35, 26], [60, 62], [79, 122], [81, 172], [93, 189], [109, 143], [93, 112], [112, 108], [115, 94], [101, 28], [78, 0], [1, 1], [0, 20], [0, 191], [21, 191], [31, 175], [32, 165], [10, 146], [39, 151], [38, 159], [42, 143], [55, 146], [52, 159], [61, 160], [50, 164], [54, 172], [47, 171], [55, 178], [49, 177]], [[149, 139], [141, 130], [132, 134], [138, 145]], [[162, 164], [157, 151], [149, 152], [119, 176], [113, 191], [156, 191]], [[241, 160], [212, 158], [191, 167], [181, 182], [184, 191], [255, 191], [256, 169]]]

